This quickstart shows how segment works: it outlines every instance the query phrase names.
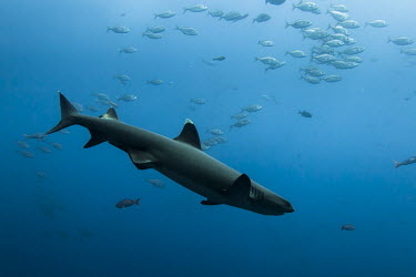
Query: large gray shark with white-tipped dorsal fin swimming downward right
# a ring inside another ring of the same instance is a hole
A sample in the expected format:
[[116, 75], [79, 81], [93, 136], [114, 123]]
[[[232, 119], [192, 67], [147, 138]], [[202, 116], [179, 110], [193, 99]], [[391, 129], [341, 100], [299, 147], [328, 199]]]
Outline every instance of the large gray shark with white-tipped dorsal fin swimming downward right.
[[91, 133], [85, 148], [103, 142], [126, 152], [139, 170], [154, 168], [184, 187], [206, 197], [203, 205], [226, 204], [264, 215], [294, 212], [290, 202], [201, 151], [196, 127], [186, 121], [182, 133], [169, 138], [122, 123], [110, 110], [100, 117], [83, 115], [60, 94], [61, 122], [47, 134], [71, 125]]

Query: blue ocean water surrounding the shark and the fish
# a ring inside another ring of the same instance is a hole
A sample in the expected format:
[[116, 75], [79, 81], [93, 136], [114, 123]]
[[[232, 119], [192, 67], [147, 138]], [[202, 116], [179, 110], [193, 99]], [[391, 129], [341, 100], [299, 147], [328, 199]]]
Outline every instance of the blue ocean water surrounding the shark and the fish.
[[[292, 10], [291, 1], [203, 2], [209, 10], [250, 14], [231, 23], [182, 13], [197, 3], [189, 0], [3, 0], [0, 276], [416, 276], [416, 171], [395, 170], [392, 162], [415, 155], [416, 60], [399, 53], [412, 45], [387, 43], [388, 37], [416, 39], [415, 3], [315, 2], [322, 14]], [[312, 63], [343, 80], [311, 84], [298, 71], [310, 57], [284, 54], [311, 54], [321, 42], [303, 40], [285, 21], [306, 19], [326, 29], [336, 23], [326, 14], [331, 3], [347, 6], [362, 22], [351, 37], [365, 48], [364, 62], [352, 70]], [[177, 13], [154, 19], [164, 10]], [[272, 19], [253, 24], [262, 12]], [[364, 27], [376, 19], [389, 25]], [[166, 28], [162, 39], [142, 37], [160, 24]], [[115, 25], [131, 31], [106, 32]], [[176, 25], [200, 33], [187, 37]], [[275, 45], [262, 48], [264, 39]], [[131, 45], [136, 53], [119, 53]], [[215, 66], [203, 62], [220, 55], [226, 59]], [[286, 64], [265, 73], [253, 60], [266, 55]], [[123, 85], [116, 74], [131, 81]], [[165, 83], [146, 84], [153, 79]], [[100, 107], [84, 112], [97, 116], [108, 106], [97, 104], [94, 93], [105, 93], [120, 105], [121, 121], [169, 137], [185, 119], [202, 140], [211, 136], [206, 130], [223, 129], [227, 142], [207, 153], [288, 199], [295, 212], [276, 217], [203, 206], [202, 196], [155, 171], [138, 171], [110, 144], [82, 148], [90, 134], [80, 126], [47, 142], [24, 140], [59, 122], [58, 90]], [[115, 100], [125, 93], [139, 100]], [[193, 105], [195, 98], [206, 104]], [[230, 130], [230, 116], [251, 104], [263, 109], [247, 126]], [[303, 110], [313, 117], [302, 117]], [[20, 148], [19, 141], [31, 147]], [[148, 178], [166, 185], [154, 187]], [[139, 197], [140, 206], [114, 207]], [[341, 230], [344, 224], [356, 229]]]

